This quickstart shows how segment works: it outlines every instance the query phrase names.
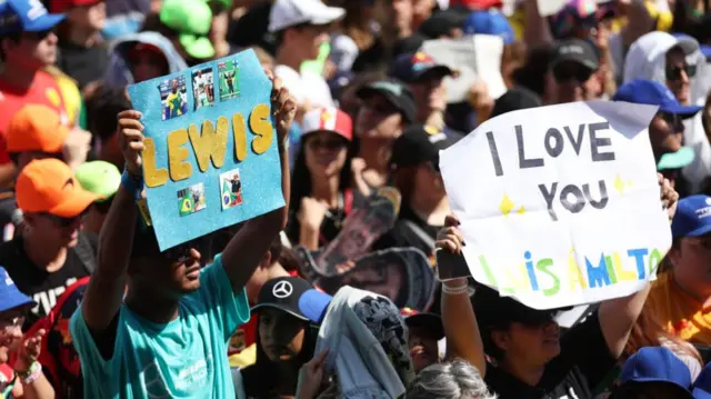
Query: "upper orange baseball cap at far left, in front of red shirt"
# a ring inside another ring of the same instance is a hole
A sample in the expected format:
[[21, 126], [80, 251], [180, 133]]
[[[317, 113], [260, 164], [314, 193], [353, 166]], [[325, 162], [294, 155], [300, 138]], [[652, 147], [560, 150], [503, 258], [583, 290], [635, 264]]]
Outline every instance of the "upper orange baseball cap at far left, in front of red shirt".
[[10, 119], [8, 152], [62, 152], [69, 128], [59, 113], [42, 104], [27, 104]]

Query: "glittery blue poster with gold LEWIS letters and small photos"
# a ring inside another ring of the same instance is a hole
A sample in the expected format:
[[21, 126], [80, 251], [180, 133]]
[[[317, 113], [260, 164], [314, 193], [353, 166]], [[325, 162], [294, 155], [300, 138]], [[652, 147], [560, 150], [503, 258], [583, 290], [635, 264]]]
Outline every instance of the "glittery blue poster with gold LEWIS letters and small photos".
[[284, 206], [271, 88], [252, 50], [129, 87], [161, 251]]

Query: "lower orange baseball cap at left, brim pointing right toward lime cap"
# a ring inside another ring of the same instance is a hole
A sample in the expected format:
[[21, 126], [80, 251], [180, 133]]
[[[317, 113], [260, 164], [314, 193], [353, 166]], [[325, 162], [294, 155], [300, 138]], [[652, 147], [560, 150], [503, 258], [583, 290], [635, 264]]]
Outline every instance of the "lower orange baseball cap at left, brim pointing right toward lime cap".
[[81, 188], [67, 163], [34, 160], [22, 169], [14, 186], [18, 208], [27, 213], [74, 218], [101, 196]]

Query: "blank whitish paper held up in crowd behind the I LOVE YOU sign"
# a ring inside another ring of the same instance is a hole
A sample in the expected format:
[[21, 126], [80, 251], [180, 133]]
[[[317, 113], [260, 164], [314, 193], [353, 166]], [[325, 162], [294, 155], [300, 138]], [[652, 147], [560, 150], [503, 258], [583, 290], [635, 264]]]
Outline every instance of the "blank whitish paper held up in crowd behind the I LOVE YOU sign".
[[492, 34], [468, 36], [459, 40], [437, 39], [422, 44], [422, 51], [437, 62], [459, 71], [457, 78], [447, 78], [447, 102], [467, 101], [469, 89], [477, 77], [487, 82], [489, 96], [494, 100], [507, 91], [501, 77], [503, 40]]

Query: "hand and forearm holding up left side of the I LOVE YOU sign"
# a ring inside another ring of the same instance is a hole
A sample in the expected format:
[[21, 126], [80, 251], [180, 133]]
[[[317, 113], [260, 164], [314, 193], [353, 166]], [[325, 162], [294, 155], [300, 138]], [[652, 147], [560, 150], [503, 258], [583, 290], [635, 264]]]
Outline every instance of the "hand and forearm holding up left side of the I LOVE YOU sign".
[[[439, 251], [449, 251], [458, 257], [462, 256], [463, 239], [459, 231], [459, 220], [449, 216], [445, 228], [438, 236], [437, 248]], [[447, 268], [438, 257], [438, 268]], [[447, 336], [447, 358], [462, 358], [479, 369], [483, 378], [487, 373], [484, 360], [484, 346], [479, 331], [477, 316], [469, 299], [469, 289], [465, 278], [442, 282], [442, 323]]]

